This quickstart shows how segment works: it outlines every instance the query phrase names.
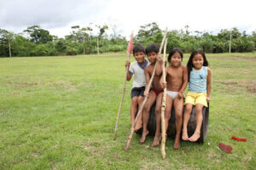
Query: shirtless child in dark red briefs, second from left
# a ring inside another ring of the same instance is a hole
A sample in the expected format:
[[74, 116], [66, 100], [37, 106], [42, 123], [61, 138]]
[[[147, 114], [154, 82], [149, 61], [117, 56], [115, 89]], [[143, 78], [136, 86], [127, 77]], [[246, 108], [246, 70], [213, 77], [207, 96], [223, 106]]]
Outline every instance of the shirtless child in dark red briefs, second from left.
[[[155, 106], [155, 120], [156, 120], [156, 132], [154, 135], [154, 142], [152, 146], [157, 146], [160, 143], [160, 112], [161, 112], [161, 103], [162, 103], [162, 96], [163, 96], [163, 88], [160, 84], [161, 78], [161, 63], [162, 60], [160, 59], [159, 53], [159, 46], [157, 44], [151, 44], [146, 48], [146, 54], [148, 57], [148, 61], [151, 63], [145, 69], [145, 76], [146, 76], [146, 89], [151, 88], [149, 93], [147, 94], [147, 90], [144, 92], [144, 96], [148, 96], [148, 101], [146, 102], [144, 109], [143, 109], [143, 135], [140, 139], [141, 143], [145, 142], [146, 136], [148, 135], [148, 119], [149, 119], [149, 111], [151, 106], [156, 101]], [[152, 87], [149, 87], [149, 81], [154, 71], [154, 65], [156, 65], [155, 75], [152, 82]]]

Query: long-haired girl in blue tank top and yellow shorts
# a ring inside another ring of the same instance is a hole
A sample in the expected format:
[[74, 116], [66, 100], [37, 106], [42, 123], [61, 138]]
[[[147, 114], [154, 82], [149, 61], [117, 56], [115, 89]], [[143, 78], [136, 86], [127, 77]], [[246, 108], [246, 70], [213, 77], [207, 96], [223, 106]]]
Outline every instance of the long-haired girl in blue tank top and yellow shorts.
[[[202, 109], [208, 106], [211, 93], [211, 70], [208, 66], [206, 55], [201, 50], [195, 50], [190, 55], [187, 67], [189, 77], [189, 92], [185, 99], [186, 110], [183, 117], [183, 140], [197, 141], [201, 135], [201, 124], [203, 121]], [[195, 105], [195, 133], [189, 138], [188, 122], [191, 111]]]

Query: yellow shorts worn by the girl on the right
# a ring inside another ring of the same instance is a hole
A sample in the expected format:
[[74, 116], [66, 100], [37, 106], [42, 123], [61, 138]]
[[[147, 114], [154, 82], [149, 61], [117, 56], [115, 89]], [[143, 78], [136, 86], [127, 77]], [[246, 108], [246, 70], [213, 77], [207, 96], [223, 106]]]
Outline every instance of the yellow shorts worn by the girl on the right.
[[207, 93], [194, 93], [194, 92], [188, 92], [186, 99], [185, 99], [185, 104], [201, 104], [206, 107], [207, 105]]

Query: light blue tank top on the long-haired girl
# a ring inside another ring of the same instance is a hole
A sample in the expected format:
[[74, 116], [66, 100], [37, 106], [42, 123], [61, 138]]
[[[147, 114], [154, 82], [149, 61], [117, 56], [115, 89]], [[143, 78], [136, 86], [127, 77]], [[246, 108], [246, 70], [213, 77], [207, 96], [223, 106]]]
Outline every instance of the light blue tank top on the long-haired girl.
[[202, 66], [200, 71], [192, 68], [189, 77], [189, 91], [207, 93], [207, 66]]

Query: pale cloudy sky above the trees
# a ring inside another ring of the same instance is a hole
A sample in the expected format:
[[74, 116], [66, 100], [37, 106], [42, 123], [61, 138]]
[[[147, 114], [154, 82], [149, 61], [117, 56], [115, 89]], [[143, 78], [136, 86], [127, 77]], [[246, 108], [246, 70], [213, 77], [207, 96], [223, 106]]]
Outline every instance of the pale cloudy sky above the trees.
[[237, 27], [250, 34], [256, 31], [255, 7], [255, 0], [0, 0], [0, 28], [20, 33], [38, 25], [65, 37], [71, 26], [108, 25], [108, 34], [116, 26], [117, 33], [129, 37], [156, 22], [169, 31], [189, 26], [189, 31], [214, 34]]

